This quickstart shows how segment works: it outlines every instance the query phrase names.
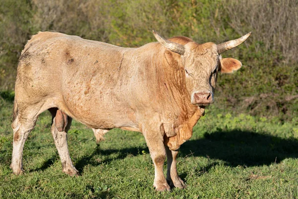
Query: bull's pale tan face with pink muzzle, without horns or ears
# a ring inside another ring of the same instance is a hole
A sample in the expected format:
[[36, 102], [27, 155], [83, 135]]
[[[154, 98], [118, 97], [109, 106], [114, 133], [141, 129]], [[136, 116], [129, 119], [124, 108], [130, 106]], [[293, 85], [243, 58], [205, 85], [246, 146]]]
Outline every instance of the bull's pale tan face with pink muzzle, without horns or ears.
[[181, 59], [191, 103], [197, 105], [213, 103], [220, 67], [216, 44], [190, 42], [185, 45], [185, 52], [181, 55]]

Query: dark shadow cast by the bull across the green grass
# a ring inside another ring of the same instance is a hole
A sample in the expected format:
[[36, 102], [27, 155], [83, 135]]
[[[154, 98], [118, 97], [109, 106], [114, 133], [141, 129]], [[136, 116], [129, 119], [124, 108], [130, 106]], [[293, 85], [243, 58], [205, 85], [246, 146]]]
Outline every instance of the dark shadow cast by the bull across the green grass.
[[[96, 148], [94, 152], [75, 164], [79, 171], [85, 165], [100, 165], [92, 161], [97, 154], [110, 155], [118, 153], [114, 159], [124, 159], [128, 155], [137, 156], [142, 151], [148, 152], [147, 147], [132, 147], [120, 150], [102, 150]], [[179, 156], [185, 157], [189, 154], [193, 156], [209, 156], [212, 159], [219, 159], [226, 162], [227, 165], [244, 167], [270, 165], [279, 163], [285, 158], [298, 158], [298, 140], [295, 138], [280, 138], [265, 133], [256, 133], [251, 131], [221, 131], [214, 133], [205, 133], [203, 138], [191, 139], [185, 142], [179, 150]], [[105, 160], [110, 162], [113, 159]]]

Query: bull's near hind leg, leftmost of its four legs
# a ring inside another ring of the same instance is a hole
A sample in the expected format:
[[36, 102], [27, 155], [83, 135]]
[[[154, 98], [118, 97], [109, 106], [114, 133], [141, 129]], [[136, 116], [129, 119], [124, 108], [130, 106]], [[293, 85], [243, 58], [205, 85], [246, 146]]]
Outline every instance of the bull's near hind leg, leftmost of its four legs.
[[13, 149], [10, 168], [15, 175], [23, 173], [23, 149], [25, 141], [35, 126], [40, 108], [40, 104], [18, 104], [16, 100], [14, 101], [13, 122], [11, 124], [11, 128], [13, 129]]

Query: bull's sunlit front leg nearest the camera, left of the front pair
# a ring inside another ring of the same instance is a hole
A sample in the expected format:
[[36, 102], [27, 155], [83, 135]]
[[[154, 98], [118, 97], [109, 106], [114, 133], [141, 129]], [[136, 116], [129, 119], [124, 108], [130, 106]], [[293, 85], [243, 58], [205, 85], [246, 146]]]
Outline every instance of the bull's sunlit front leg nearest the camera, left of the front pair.
[[154, 164], [155, 174], [153, 186], [157, 191], [170, 191], [170, 186], [167, 184], [163, 175], [163, 163], [166, 156], [163, 145], [163, 135], [160, 131], [145, 131], [143, 133]]

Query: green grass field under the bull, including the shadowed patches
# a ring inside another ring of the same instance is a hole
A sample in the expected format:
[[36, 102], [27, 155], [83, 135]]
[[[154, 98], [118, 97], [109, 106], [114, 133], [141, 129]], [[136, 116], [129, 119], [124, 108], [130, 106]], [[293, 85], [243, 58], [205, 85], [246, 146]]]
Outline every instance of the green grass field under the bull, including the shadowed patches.
[[[12, 103], [0, 98], [0, 198], [298, 198], [296, 120], [206, 111], [181, 146], [178, 172], [187, 189], [155, 192], [154, 168], [141, 133], [113, 129], [99, 146], [91, 129], [74, 121], [69, 150], [81, 176], [62, 173], [43, 113], [24, 148], [25, 174], [9, 169]], [[164, 164], [166, 171], [166, 163]]]

